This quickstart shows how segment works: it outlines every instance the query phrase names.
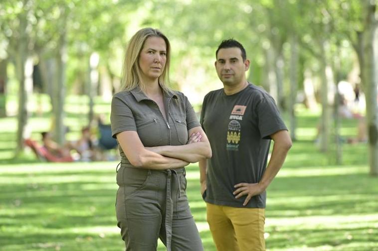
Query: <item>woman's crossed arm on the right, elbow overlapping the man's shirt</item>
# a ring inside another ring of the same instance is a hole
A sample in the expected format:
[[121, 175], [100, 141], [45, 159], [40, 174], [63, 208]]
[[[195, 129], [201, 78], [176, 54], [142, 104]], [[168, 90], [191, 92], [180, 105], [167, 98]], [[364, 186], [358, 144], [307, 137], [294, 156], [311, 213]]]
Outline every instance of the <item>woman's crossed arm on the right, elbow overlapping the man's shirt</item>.
[[204, 158], [211, 158], [211, 147], [202, 127], [196, 126], [188, 131], [189, 135], [200, 137], [200, 141], [189, 142], [186, 145], [162, 145], [147, 147], [148, 150], [166, 157], [178, 158], [195, 163]]

